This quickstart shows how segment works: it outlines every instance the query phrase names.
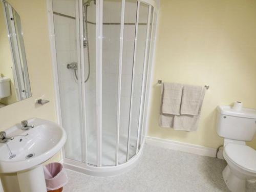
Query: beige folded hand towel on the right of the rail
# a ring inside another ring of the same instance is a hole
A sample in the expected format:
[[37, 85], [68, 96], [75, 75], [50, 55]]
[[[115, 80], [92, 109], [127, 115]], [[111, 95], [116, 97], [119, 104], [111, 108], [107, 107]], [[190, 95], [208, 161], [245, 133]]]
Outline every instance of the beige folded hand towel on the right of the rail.
[[181, 115], [198, 115], [202, 90], [204, 90], [204, 88], [200, 86], [183, 86]]

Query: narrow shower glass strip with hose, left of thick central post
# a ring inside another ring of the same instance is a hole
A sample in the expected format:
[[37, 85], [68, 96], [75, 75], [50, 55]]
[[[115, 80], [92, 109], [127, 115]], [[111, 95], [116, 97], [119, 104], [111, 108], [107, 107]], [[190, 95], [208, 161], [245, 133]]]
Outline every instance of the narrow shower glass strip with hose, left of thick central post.
[[[98, 1], [96, 1], [98, 3]], [[97, 97], [96, 97], [96, 5], [83, 2], [83, 56], [86, 100], [87, 162], [98, 164]]]

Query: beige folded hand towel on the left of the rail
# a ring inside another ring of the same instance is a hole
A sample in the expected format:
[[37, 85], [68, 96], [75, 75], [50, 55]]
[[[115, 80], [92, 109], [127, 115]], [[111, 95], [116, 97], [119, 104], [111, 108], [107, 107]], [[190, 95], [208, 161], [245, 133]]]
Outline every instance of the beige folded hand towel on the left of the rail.
[[162, 114], [179, 115], [182, 96], [182, 84], [162, 84]]

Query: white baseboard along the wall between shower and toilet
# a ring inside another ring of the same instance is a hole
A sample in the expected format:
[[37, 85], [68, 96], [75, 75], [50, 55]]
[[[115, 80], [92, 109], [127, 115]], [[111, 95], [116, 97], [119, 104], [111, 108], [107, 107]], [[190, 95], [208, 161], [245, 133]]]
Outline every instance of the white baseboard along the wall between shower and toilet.
[[[147, 144], [151, 144], [151, 145], [155, 145], [163, 148], [169, 148], [170, 150], [177, 150], [181, 152], [201, 155], [201, 156], [215, 157], [217, 152], [216, 148], [210, 148], [210, 147], [205, 147], [201, 145], [173, 141], [169, 139], [160, 139], [157, 137], [146, 136], [145, 141]], [[218, 153], [218, 158], [223, 159], [222, 149]]]

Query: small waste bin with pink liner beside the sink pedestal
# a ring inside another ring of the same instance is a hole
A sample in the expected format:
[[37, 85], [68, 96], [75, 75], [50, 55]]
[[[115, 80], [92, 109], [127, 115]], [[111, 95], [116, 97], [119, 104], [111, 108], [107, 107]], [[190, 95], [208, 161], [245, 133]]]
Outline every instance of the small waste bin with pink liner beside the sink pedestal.
[[68, 176], [61, 163], [50, 163], [44, 166], [47, 191], [61, 192], [68, 183]]

